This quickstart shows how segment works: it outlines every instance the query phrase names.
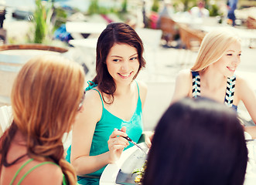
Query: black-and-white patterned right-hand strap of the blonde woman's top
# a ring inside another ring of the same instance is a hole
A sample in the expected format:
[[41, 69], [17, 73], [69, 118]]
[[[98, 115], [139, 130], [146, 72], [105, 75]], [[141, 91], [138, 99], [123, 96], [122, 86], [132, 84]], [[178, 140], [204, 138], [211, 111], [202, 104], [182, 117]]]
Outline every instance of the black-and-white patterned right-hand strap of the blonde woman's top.
[[225, 96], [224, 103], [229, 107], [233, 106], [235, 85], [236, 85], [236, 76], [227, 78], [227, 89], [226, 89], [226, 96]]

